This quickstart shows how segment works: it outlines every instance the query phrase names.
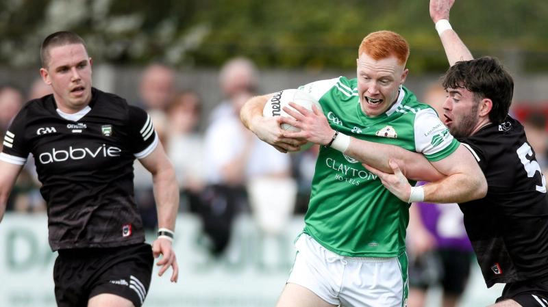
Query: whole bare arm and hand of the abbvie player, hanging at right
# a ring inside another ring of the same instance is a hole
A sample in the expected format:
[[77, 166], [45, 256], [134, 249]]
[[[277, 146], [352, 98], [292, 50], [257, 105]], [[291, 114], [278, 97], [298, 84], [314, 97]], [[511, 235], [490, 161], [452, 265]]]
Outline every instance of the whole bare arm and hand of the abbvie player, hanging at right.
[[[158, 144], [150, 155], [139, 161], [152, 174], [154, 199], [158, 210], [158, 229], [164, 228], [173, 232], [179, 208], [179, 187], [173, 165], [164, 152], [162, 144]], [[179, 267], [171, 241], [164, 236], [158, 237], [152, 244], [152, 251], [155, 258], [162, 254], [162, 259], [156, 264], [162, 266], [158, 275], [162, 276], [169, 267], [173, 267], [171, 282], [177, 282]]]

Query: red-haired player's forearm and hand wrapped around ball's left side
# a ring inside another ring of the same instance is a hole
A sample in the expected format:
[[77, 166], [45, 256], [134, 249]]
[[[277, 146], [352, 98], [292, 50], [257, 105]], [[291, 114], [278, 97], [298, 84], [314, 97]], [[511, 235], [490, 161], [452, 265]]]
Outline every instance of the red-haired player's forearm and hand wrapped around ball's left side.
[[262, 116], [262, 109], [272, 96], [273, 94], [268, 94], [249, 99], [240, 110], [240, 119], [259, 139], [271, 144], [280, 152], [299, 150], [301, 145], [306, 144], [306, 140], [284, 137], [284, 130], [280, 128], [282, 116]]

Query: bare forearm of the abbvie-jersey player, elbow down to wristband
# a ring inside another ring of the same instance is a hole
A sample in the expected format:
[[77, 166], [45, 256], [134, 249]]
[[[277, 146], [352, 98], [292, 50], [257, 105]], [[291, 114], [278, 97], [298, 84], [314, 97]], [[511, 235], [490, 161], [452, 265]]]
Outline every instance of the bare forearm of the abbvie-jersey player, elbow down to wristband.
[[175, 230], [179, 209], [179, 187], [173, 168], [165, 168], [153, 175], [154, 199], [158, 211], [158, 228]]

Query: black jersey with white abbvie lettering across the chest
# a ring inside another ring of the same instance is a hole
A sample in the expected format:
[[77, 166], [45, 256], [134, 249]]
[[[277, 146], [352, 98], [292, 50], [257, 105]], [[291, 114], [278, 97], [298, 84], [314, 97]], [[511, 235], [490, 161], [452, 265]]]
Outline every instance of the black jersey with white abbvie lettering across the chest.
[[145, 241], [133, 163], [158, 144], [151, 119], [95, 88], [89, 106], [83, 118], [71, 121], [58, 114], [53, 95], [29, 101], [3, 142], [3, 161], [23, 164], [34, 155], [52, 250]]

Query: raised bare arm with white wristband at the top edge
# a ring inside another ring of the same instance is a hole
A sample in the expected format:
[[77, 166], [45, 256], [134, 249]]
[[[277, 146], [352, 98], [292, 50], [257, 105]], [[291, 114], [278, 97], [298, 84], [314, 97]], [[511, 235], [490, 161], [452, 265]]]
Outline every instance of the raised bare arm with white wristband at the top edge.
[[455, 0], [430, 0], [430, 18], [436, 24], [436, 30], [440, 35], [450, 66], [456, 62], [469, 61], [474, 58], [464, 42], [458, 37], [457, 32], [453, 31], [449, 25], [449, 11], [453, 3]]

